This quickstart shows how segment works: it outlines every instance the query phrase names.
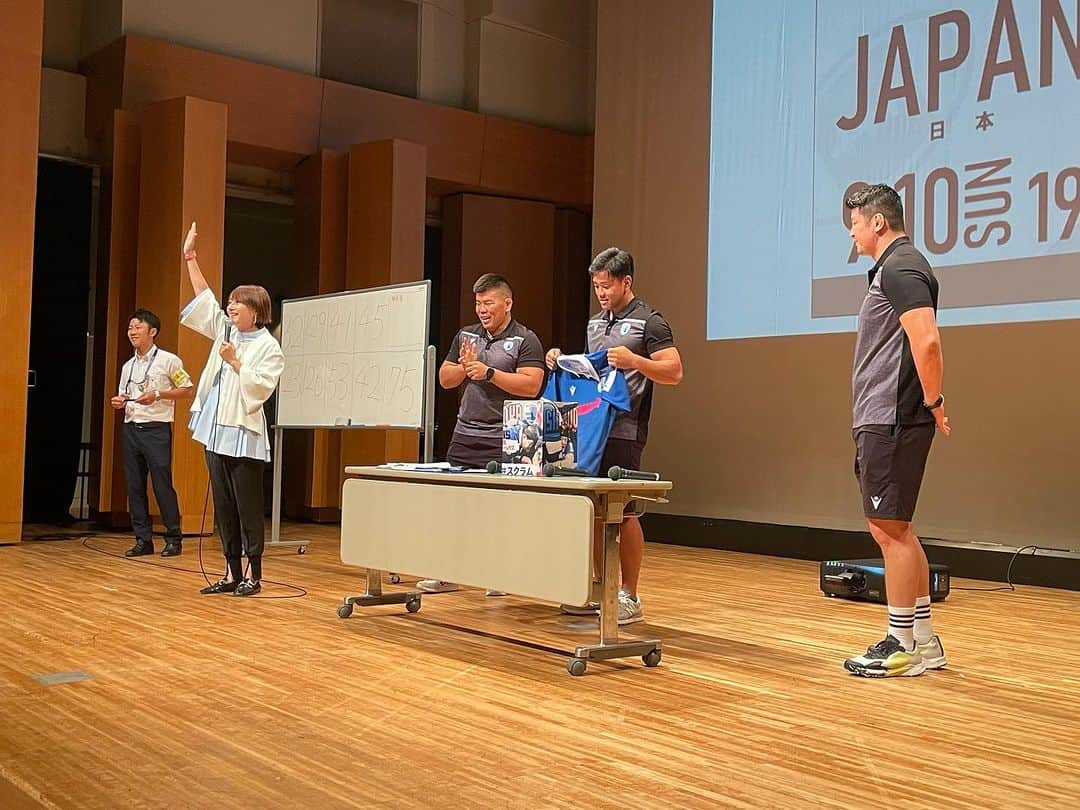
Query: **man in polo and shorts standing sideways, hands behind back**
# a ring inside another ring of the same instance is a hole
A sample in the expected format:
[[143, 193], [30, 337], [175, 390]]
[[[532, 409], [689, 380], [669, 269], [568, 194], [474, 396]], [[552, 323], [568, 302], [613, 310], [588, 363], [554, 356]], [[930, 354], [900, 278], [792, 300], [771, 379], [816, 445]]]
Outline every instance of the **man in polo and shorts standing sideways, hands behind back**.
[[937, 279], [904, 231], [900, 195], [870, 186], [847, 201], [851, 239], [874, 259], [859, 310], [852, 373], [855, 475], [885, 557], [889, 630], [845, 667], [867, 677], [945, 666], [930, 621], [930, 568], [912, 517], [934, 432], [950, 428], [942, 394]]

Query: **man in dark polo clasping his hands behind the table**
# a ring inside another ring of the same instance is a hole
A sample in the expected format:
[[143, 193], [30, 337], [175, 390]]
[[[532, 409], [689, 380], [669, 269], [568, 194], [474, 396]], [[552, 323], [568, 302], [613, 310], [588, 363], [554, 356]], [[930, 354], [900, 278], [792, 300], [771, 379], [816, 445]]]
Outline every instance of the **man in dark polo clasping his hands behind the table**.
[[[513, 319], [514, 293], [496, 273], [473, 284], [480, 323], [454, 336], [438, 369], [438, 384], [464, 384], [458, 421], [446, 460], [455, 467], [484, 468], [502, 458], [502, 403], [531, 400], [543, 388], [543, 347], [536, 334]], [[421, 591], [456, 591], [457, 585], [423, 579]], [[489, 596], [501, 595], [488, 591]]]

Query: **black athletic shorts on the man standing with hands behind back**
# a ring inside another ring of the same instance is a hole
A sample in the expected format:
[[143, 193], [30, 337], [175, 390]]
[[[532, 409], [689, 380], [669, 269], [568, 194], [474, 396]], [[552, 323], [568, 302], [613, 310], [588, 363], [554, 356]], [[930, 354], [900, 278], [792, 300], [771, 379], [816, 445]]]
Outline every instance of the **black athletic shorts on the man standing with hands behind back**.
[[935, 426], [864, 424], [855, 428], [855, 477], [863, 514], [910, 523], [934, 441]]

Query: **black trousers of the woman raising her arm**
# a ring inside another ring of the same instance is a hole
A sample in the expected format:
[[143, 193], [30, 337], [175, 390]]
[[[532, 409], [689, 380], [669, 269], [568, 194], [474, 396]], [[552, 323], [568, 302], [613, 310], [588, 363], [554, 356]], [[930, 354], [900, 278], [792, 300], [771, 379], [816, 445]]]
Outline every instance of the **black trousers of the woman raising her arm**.
[[262, 501], [265, 461], [220, 456], [206, 450], [214, 516], [225, 555], [234, 579], [242, 578], [241, 552], [252, 566], [251, 577], [262, 578], [266, 518]]

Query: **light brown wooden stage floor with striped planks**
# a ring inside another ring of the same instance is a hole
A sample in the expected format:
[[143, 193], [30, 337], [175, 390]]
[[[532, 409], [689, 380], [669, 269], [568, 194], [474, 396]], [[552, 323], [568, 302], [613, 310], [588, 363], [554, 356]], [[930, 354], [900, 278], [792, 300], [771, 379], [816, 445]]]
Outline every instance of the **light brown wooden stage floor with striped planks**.
[[632, 634], [663, 664], [573, 678], [557, 650], [594, 635], [553, 606], [342, 621], [337, 527], [285, 534], [318, 542], [265, 576], [301, 598], [200, 596], [194, 541], [0, 548], [0, 807], [1080, 806], [1080, 593], [954, 592], [949, 669], [865, 680], [840, 662], [883, 608], [824, 598], [814, 564], [650, 545]]

